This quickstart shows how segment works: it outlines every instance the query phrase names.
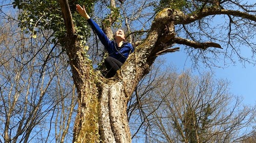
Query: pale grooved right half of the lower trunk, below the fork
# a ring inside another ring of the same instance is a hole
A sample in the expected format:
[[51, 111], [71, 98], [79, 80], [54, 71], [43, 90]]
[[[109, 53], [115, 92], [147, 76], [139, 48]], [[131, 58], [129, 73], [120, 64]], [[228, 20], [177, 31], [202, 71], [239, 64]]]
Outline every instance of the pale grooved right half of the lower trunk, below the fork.
[[100, 86], [99, 129], [102, 142], [131, 142], [126, 113], [129, 97], [124, 94], [122, 81], [110, 81]]

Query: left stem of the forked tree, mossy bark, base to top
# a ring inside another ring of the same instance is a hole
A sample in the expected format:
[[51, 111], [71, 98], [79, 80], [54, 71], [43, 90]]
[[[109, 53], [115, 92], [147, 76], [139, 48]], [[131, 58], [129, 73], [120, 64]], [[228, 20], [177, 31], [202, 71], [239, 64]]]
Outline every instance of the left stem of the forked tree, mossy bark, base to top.
[[86, 51], [78, 43], [67, 0], [59, 0], [67, 29], [66, 51], [78, 93], [73, 142], [99, 142], [97, 76]]

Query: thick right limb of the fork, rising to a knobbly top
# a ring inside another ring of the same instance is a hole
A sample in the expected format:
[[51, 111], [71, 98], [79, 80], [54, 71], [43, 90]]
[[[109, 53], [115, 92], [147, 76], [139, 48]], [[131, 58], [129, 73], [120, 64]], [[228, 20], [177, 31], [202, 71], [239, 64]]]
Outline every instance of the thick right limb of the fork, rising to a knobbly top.
[[175, 37], [174, 23], [170, 20], [172, 15], [172, 9], [164, 9], [156, 15], [147, 38], [136, 47], [118, 71], [118, 77], [124, 81], [127, 99], [131, 97], [140, 79], [148, 72], [156, 59], [156, 53], [172, 45], [172, 39]]

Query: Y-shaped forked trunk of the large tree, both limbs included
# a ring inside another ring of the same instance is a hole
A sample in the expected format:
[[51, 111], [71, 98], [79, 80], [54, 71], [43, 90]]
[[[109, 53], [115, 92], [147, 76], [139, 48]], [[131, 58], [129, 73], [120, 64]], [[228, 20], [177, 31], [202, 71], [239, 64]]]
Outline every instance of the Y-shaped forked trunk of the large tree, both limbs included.
[[59, 3], [67, 29], [66, 51], [78, 93], [73, 142], [131, 142], [126, 105], [157, 53], [173, 43], [172, 10], [166, 9], [156, 16], [145, 41], [115, 77], [105, 79], [96, 74], [86, 51], [77, 41], [67, 0], [59, 0]]

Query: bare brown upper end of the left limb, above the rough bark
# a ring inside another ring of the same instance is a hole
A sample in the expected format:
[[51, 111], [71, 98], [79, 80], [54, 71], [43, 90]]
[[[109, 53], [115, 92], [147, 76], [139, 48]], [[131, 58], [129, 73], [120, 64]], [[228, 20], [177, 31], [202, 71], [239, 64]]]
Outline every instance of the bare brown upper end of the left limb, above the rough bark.
[[64, 18], [64, 21], [65, 21], [67, 34], [68, 35], [74, 34], [75, 33], [74, 23], [72, 21], [72, 15], [71, 15], [68, 1], [59, 0], [59, 4], [62, 12], [62, 17]]

